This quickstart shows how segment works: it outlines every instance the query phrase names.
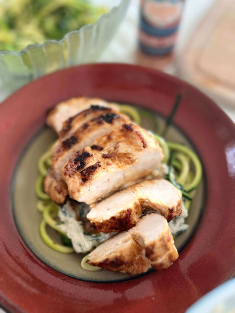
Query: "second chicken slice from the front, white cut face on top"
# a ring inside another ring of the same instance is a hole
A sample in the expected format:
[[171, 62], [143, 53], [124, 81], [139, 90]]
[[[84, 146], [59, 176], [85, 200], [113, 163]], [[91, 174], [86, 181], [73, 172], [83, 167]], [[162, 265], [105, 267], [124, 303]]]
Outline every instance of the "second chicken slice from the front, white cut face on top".
[[170, 222], [181, 214], [182, 193], [165, 179], [144, 180], [91, 206], [87, 219], [98, 232], [128, 230], [145, 209], [158, 211]]

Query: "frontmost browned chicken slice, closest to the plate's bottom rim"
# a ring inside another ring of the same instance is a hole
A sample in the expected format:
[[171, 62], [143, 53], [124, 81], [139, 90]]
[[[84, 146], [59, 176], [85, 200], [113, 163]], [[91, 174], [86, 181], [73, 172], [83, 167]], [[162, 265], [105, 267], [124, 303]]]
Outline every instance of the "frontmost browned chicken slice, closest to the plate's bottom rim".
[[178, 252], [167, 221], [158, 213], [143, 216], [138, 224], [108, 239], [89, 255], [89, 264], [130, 275], [168, 268]]

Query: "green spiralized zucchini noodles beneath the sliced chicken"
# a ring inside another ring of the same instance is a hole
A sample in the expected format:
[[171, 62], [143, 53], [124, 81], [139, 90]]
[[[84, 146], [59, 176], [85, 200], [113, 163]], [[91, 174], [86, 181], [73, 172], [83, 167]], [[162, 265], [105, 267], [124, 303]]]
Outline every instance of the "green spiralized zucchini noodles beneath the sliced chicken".
[[[173, 108], [174, 112], [176, 112], [178, 102], [179, 101], [177, 99]], [[199, 157], [184, 144], [166, 141], [162, 135], [154, 133], [158, 130], [158, 124], [155, 115], [151, 112], [139, 110], [129, 105], [120, 105], [120, 112], [129, 115], [135, 123], [141, 126], [143, 126], [142, 122], [147, 123], [148, 126], [151, 125], [152, 132], [163, 150], [164, 159], [162, 162], [168, 168], [165, 179], [169, 180], [176, 188], [182, 191], [184, 206], [187, 210], [189, 210], [190, 203], [195, 194], [195, 189], [202, 178], [202, 165]], [[146, 121], [146, 118], [148, 121]], [[169, 125], [170, 123], [168, 123], [167, 127], [169, 127]], [[167, 129], [164, 130], [164, 134], [166, 132]], [[62, 253], [71, 253], [74, 251], [71, 240], [67, 237], [66, 233], [61, 231], [61, 228], [59, 227], [60, 222], [58, 221], [57, 216], [59, 207], [50, 200], [48, 195], [43, 190], [43, 180], [47, 175], [51, 156], [50, 146], [47, 152], [40, 157], [38, 162], [38, 170], [40, 174], [36, 181], [35, 192], [40, 199], [37, 203], [37, 208], [43, 214], [43, 220], [40, 225], [40, 234], [47, 246]], [[82, 218], [82, 216], [80, 216], [80, 218]], [[61, 233], [63, 245], [55, 243], [48, 236], [46, 225], [49, 225]], [[187, 227], [184, 230], [180, 230], [180, 232], [185, 231], [186, 229]], [[85, 229], [83, 233], [86, 234]], [[176, 236], [177, 233], [174, 234], [174, 238]], [[92, 271], [100, 269], [87, 264], [87, 255], [82, 259], [81, 267]]]

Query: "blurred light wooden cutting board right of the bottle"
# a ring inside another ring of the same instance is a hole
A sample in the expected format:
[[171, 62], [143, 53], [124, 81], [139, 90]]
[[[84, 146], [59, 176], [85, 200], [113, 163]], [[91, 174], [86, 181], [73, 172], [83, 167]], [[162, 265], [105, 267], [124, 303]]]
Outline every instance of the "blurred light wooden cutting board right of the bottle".
[[235, 0], [217, 0], [179, 58], [180, 76], [235, 107]]

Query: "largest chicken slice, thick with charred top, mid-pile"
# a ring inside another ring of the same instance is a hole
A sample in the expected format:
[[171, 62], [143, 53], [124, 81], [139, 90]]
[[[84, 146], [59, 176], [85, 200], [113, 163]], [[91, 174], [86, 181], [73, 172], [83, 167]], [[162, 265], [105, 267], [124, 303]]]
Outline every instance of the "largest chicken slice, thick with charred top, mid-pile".
[[[70, 197], [87, 204], [134, 184], [163, 158], [156, 139], [134, 124], [124, 124], [122, 129], [99, 137], [94, 146], [99, 149], [78, 151], [62, 169]], [[93, 156], [86, 167], [79, 161], [84, 152]]]

